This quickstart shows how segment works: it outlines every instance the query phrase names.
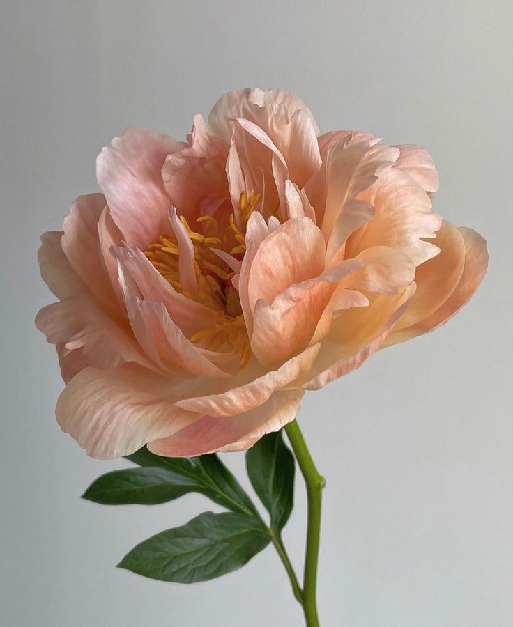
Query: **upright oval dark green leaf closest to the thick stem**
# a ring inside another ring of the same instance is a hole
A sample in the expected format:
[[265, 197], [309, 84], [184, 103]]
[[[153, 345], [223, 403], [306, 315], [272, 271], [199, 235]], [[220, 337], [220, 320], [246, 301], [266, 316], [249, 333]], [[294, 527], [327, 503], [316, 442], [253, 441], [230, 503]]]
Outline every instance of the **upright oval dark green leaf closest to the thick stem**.
[[246, 468], [255, 492], [270, 513], [271, 526], [283, 529], [293, 506], [295, 468], [280, 431], [264, 435], [247, 450]]

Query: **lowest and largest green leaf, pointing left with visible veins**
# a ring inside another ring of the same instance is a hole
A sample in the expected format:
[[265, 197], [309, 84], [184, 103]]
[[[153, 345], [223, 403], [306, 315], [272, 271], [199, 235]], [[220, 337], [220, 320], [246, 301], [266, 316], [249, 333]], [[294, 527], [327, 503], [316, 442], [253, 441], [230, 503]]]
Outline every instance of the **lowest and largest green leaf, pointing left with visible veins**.
[[206, 511], [141, 542], [118, 567], [161, 581], [207, 581], [244, 566], [269, 542], [254, 518]]

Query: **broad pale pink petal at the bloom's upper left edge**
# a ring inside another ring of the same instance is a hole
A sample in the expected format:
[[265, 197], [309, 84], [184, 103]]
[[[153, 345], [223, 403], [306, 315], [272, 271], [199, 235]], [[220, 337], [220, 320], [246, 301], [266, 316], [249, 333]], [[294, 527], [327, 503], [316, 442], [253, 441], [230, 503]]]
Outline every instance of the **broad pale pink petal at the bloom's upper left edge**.
[[167, 135], [132, 127], [104, 148], [96, 162], [98, 183], [112, 218], [129, 244], [141, 250], [169, 231], [169, 197], [160, 170], [183, 147]]

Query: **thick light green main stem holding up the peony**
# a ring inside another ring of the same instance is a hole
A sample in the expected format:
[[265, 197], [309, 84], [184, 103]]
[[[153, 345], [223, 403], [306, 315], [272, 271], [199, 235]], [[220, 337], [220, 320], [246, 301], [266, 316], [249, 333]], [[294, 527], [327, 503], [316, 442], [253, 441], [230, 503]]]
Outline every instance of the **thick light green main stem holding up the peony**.
[[302, 605], [307, 627], [319, 627], [316, 584], [317, 564], [319, 562], [319, 537], [321, 534], [321, 493], [325, 486], [325, 481], [315, 467], [298, 421], [293, 420], [286, 425], [285, 429], [307, 486], [308, 525]]

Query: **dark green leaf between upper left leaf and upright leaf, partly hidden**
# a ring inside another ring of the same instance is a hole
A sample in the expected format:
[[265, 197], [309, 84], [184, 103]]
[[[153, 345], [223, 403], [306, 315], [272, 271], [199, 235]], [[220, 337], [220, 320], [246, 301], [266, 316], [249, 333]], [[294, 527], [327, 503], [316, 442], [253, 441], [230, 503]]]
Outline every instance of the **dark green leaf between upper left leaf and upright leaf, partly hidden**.
[[201, 455], [190, 459], [161, 457], [143, 447], [126, 458], [142, 467], [168, 470], [176, 477], [175, 481], [178, 486], [183, 486], [183, 479], [187, 479], [187, 485], [191, 486], [187, 491], [194, 490], [231, 511], [259, 518], [250, 497], [216, 454]]

